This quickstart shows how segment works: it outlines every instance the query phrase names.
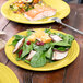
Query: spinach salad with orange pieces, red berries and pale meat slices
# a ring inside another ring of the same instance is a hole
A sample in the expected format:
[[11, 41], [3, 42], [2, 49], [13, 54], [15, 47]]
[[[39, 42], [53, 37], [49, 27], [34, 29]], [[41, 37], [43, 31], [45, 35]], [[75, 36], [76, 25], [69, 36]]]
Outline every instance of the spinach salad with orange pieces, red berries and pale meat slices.
[[32, 67], [43, 67], [67, 57], [74, 37], [69, 34], [52, 33], [51, 28], [26, 32], [26, 36], [14, 35], [11, 45], [16, 60], [23, 60]]

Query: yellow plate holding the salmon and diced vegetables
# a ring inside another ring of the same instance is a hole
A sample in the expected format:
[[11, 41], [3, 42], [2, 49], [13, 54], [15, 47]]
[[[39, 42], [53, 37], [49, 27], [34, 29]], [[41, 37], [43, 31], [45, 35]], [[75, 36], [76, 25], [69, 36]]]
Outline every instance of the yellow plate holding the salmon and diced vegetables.
[[[46, 24], [46, 23], [52, 23], [55, 21], [48, 21], [49, 17], [42, 19], [39, 21], [28, 21], [27, 19], [24, 17], [22, 14], [14, 14], [13, 11], [9, 8], [9, 5], [15, 0], [9, 0], [7, 1], [2, 8], [1, 8], [1, 13], [3, 16], [7, 19], [17, 22], [17, 23], [24, 23], [24, 24]], [[56, 15], [51, 17], [60, 17], [63, 19], [70, 13], [70, 7], [62, 0], [44, 0], [45, 3], [48, 5], [51, 5], [52, 8], [57, 9]]]

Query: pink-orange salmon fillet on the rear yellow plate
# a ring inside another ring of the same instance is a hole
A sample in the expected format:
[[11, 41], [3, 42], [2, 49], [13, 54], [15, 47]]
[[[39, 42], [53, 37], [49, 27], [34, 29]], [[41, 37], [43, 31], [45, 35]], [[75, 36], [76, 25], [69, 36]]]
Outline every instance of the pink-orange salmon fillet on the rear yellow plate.
[[29, 10], [28, 12], [25, 12], [24, 16], [29, 21], [37, 21], [44, 17], [52, 16], [55, 14], [55, 9], [46, 5], [36, 4], [34, 9]]

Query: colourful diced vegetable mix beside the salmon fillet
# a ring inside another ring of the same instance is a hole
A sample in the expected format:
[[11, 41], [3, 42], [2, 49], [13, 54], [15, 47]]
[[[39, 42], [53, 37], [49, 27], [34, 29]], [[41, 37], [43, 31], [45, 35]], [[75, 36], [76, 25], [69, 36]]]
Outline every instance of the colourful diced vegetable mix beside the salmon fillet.
[[12, 2], [10, 8], [14, 13], [21, 14], [34, 9], [34, 5], [29, 1], [32, 2], [33, 0], [17, 0]]

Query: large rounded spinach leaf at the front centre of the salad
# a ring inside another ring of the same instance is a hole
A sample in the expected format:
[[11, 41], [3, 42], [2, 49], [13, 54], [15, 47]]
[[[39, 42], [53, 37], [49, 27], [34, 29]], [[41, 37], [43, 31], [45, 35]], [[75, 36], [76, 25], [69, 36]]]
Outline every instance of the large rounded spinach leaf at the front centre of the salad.
[[35, 54], [35, 56], [31, 60], [32, 67], [43, 67], [46, 64], [46, 57], [43, 51], [38, 51]]

